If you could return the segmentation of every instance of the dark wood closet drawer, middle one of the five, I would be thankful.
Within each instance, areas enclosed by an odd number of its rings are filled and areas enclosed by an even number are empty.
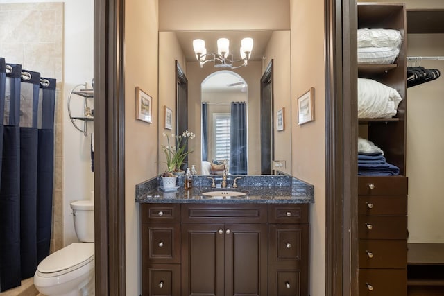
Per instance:
[[[358,216],[361,239],[407,239],[407,216]]]

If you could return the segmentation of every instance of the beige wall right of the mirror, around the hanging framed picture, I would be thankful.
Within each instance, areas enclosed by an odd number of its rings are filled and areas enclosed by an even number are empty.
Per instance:
[[[291,172],[314,185],[310,206],[310,295],[325,295],[324,1],[291,1]],[[297,125],[296,98],[314,87],[315,121]]]

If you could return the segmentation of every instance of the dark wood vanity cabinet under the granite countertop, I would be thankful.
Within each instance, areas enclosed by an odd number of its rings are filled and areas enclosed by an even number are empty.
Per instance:
[[[308,204],[142,204],[141,220],[143,295],[308,295]]]

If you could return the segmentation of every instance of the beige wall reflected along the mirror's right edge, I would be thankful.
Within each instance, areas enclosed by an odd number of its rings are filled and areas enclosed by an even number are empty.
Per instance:
[[[265,60],[262,64],[264,73],[271,59],[273,59],[273,111],[276,121],[276,112],[284,108],[284,130],[274,130],[274,159],[285,161],[286,166],[280,171],[291,174],[291,55],[290,31],[273,31],[268,43]]]

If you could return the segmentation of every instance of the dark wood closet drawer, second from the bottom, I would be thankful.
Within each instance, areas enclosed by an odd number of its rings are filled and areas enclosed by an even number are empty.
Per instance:
[[[407,268],[407,240],[359,240],[359,268]]]

